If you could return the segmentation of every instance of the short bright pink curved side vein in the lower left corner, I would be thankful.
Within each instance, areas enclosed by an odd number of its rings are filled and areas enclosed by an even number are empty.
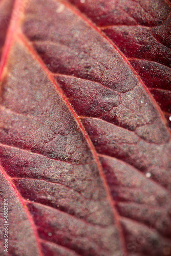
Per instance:
[[[14,192],[17,196],[17,198],[19,199],[20,203],[22,204],[25,212],[26,212],[26,215],[27,215],[27,218],[31,224],[31,227],[33,229],[33,233],[34,233],[34,236],[35,236],[35,239],[37,241],[37,238],[38,238],[38,233],[37,233],[37,229],[35,227],[35,224],[33,222],[33,219],[31,217],[31,214],[30,214],[30,211],[28,210],[28,207],[25,203],[25,200],[23,199],[23,197],[19,194],[18,190],[16,189],[15,185],[13,184],[13,182],[11,181],[10,177],[6,174],[6,172],[4,171],[4,169],[2,168],[2,166],[0,165],[0,169],[3,173],[3,175],[5,176],[5,178],[7,179],[7,181],[9,182],[10,186],[14,189]],[[38,244],[38,250],[39,250],[39,256],[43,256],[42,252],[41,252],[41,246],[40,246],[40,243],[37,242]]]

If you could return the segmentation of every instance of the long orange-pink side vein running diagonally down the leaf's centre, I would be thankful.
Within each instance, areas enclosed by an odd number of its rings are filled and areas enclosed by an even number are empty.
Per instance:
[[[47,69],[47,67],[45,66],[45,63],[41,60],[41,58],[38,56],[38,54],[34,51],[34,49],[32,48],[31,44],[28,42],[27,38],[22,33],[19,33],[18,37],[20,38],[20,40],[22,40],[24,46],[28,49],[28,51],[34,56],[36,61],[39,63],[39,65],[42,67],[44,72],[49,77],[50,81],[55,85],[59,95],[62,97],[63,101],[66,102],[69,110],[73,114],[73,116],[74,116],[75,120],[77,121],[77,123],[78,123],[78,125],[79,125],[79,127],[80,127],[80,129],[81,129],[81,131],[82,131],[82,133],[84,135],[84,137],[86,138],[86,140],[87,140],[87,142],[88,142],[88,144],[90,146],[90,149],[92,151],[92,154],[94,156],[94,159],[96,161],[97,167],[99,169],[99,174],[100,174],[100,177],[101,177],[101,179],[103,181],[103,185],[104,185],[104,188],[105,188],[105,191],[106,191],[106,197],[109,200],[109,203],[110,203],[110,205],[112,207],[113,215],[115,217],[115,222],[116,222],[116,225],[118,227],[118,232],[119,232],[119,235],[120,235],[120,239],[122,241],[122,250],[125,253],[125,255],[127,255],[127,251],[125,250],[126,246],[125,246],[123,231],[122,231],[122,227],[121,227],[121,224],[120,224],[120,221],[119,221],[119,214],[118,214],[118,211],[115,208],[115,202],[113,201],[113,198],[111,196],[111,193],[110,193],[110,190],[109,190],[109,186],[108,186],[108,183],[107,183],[107,181],[105,179],[105,176],[103,174],[103,169],[102,169],[101,163],[99,161],[99,158],[98,158],[97,152],[95,150],[95,147],[92,144],[92,141],[91,141],[89,135],[87,134],[86,130],[84,129],[84,126],[82,125],[81,121],[79,120],[79,117],[77,116],[76,112],[72,108],[69,100],[63,94],[62,90],[58,86],[58,83],[55,81],[55,79],[53,77],[53,74]]]

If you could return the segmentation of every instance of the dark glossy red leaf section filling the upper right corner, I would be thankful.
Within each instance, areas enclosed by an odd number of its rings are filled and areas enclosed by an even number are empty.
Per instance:
[[[171,126],[171,4],[161,1],[70,0],[126,56]],[[84,1],[83,1],[84,2]]]

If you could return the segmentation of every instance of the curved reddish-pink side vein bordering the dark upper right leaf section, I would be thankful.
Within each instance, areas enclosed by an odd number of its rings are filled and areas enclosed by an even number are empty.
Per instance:
[[[152,94],[149,92],[148,88],[145,86],[145,84],[143,83],[142,79],[139,77],[139,75],[137,74],[137,72],[135,71],[135,69],[132,67],[131,63],[127,60],[126,56],[119,50],[119,48],[114,44],[113,41],[111,41],[109,39],[108,36],[106,36],[101,30],[100,28],[98,28],[93,22],[91,22],[91,20],[84,14],[82,14],[74,5],[68,3],[68,1],[66,0],[59,0],[63,5],[65,5],[68,9],[70,9],[73,13],[75,13],[78,17],[80,17],[82,20],[84,20],[84,22],[86,22],[92,29],[94,29],[95,31],[97,31],[101,37],[103,37],[105,40],[107,40],[109,42],[110,45],[113,46],[113,48],[120,54],[120,56],[123,58],[123,60],[126,62],[127,66],[129,66],[129,68],[132,70],[132,72],[134,73],[134,75],[137,77],[138,81],[142,84],[142,87],[144,88],[144,90],[146,91],[146,93],[148,94],[148,96],[151,98],[153,104],[155,105],[156,109],[158,110],[161,120],[163,121],[168,133],[171,135],[170,129],[169,127],[167,127],[167,121],[159,107],[159,105],[157,104],[156,100],[154,99],[154,97],[152,96]]]

